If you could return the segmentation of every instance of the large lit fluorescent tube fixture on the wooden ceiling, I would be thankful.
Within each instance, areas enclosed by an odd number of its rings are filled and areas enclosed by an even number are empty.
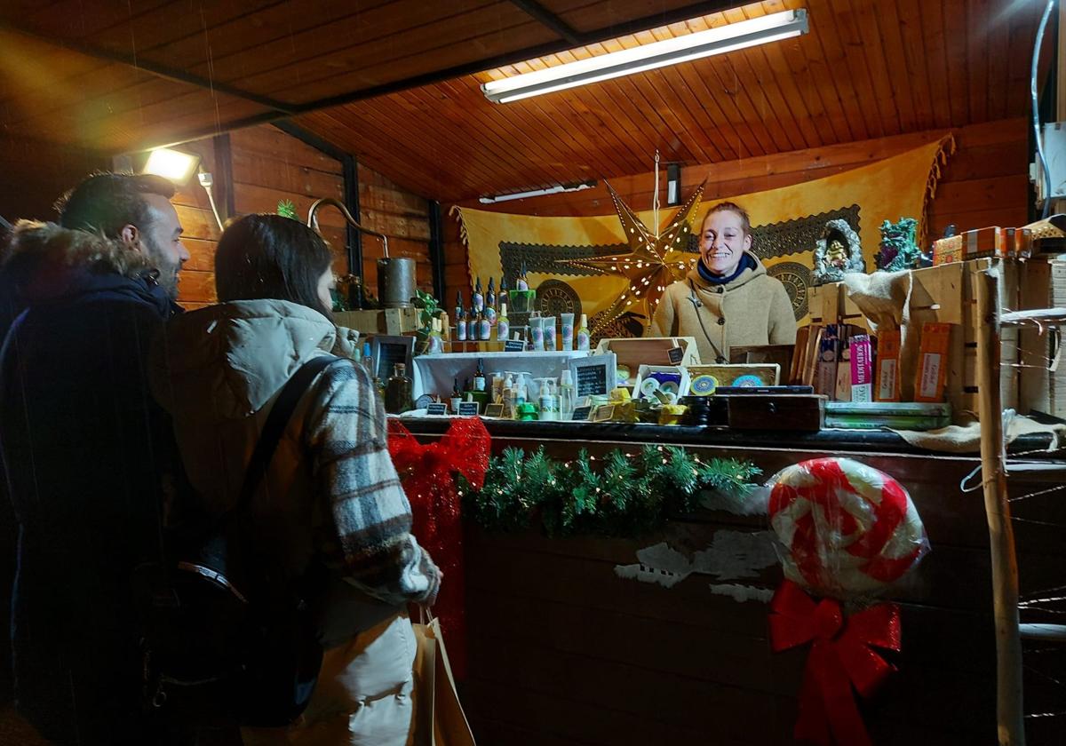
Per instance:
[[[645,44],[633,49],[599,54],[535,72],[526,72],[483,83],[485,98],[507,103],[530,96],[563,91],[611,78],[643,72],[679,62],[724,54],[769,42],[779,42],[806,34],[807,11],[784,11],[761,18],[750,18],[707,31]]]

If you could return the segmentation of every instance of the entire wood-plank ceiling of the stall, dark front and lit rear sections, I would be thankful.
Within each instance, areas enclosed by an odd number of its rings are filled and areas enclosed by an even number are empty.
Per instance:
[[[811,29],[796,39],[507,104],[479,88],[796,7]],[[397,183],[458,201],[647,172],[656,148],[664,161],[706,164],[1021,116],[1041,10],[1031,0],[5,0],[0,136],[120,152],[291,115]]]

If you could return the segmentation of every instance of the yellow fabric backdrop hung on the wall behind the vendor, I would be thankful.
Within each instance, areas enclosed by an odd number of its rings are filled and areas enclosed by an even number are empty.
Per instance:
[[[873,271],[873,257],[881,240],[878,228],[883,221],[917,217],[923,222],[926,200],[936,189],[939,164],[947,158],[951,139],[944,137],[922,147],[869,166],[817,179],[792,186],[741,194],[705,201],[696,212],[693,230],[698,231],[704,215],[711,204],[729,199],[744,207],[753,225],[782,223],[809,215],[859,206],[859,238],[868,271]],[[713,178],[713,168],[711,169]],[[471,277],[499,277],[500,243],[553,245],[553,246],[608,246],[625,244],[626,239],[615,214],[586,217],[535,217],[500,212],[486,212],[470,208],[458,209],[462,232],[469,249]],[[675,210],[660,211],[660,228],[665,226]],[[645,225],[652,227],[650,210],[637,213]],[[920,226],[919,236],[923,236]],[[623,249],[625,250],[625,249]],[[813,266],[813,246],[803,247],[792,254],[764,259],[766,266],[778,262],[796,262]],[[530,287],[543,280],[565,277],[565,281],[581,297],[583,310],[589,318],[603,310],[624,290],[624,278],[613,275],[578,277],[567,275],[564,269],[553,274],[530,272]]]

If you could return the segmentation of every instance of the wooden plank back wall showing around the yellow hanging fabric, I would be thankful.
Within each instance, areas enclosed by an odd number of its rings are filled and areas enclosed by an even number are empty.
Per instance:
[[[709,176],[705,200],[778,189],[839,174],[899,155],[937,140],[947,130],[866,140],[845,145],[793,150],[681,169],[682,197]],[[957,151],[940,178],[930,206],[930,236],[940,236],[949,223],[959,230],[989,225],[1019,226],[1028,222],[1028,130],[1024,119],[1003,119],[954,130]],[[653,174],[648,172],[611,184],[636,210],[651,207]],[[665,179],[660,181],[665,197]],[[465,207],[531,215],[602,215],[613,207],[602,183],[596,189],[545,197],[518,199],[499,205],[477,200]],[[451,305],[455,291],[469,294],[466,247],[459,242],[454,218],[445,228],[446,296]]]

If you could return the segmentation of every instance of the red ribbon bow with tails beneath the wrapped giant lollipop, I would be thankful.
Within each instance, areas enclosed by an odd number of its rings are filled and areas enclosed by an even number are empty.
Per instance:
[[[895,667],[871,646],[900,649],[900,610],[881,603],[846,622],[840,602],[817,602],[785,581],[770,602],[770,644],[774,652],[811,643],[800,691],[796,741],[829,746],[870,746],[852,686],[869,697]]]

